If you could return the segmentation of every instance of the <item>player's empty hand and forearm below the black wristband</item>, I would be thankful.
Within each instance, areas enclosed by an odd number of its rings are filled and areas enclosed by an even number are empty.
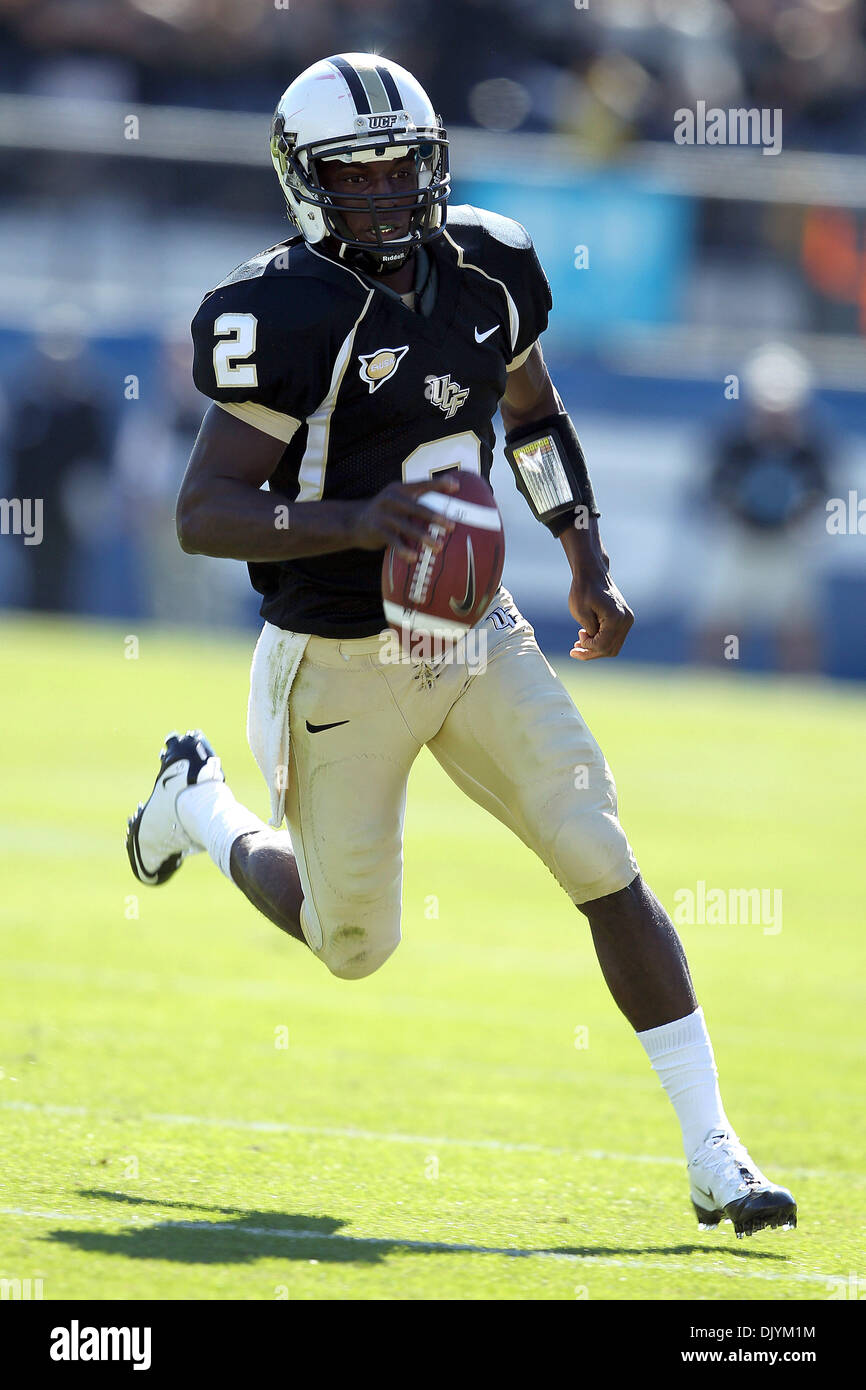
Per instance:
[[[571,528],[563,543],[573,574],[569,612],[581,624],[569,656],[578,662],[617,656],[634,623],[634,613],[610,578],[610,559],[598,525],[592,523],[582,532]]]

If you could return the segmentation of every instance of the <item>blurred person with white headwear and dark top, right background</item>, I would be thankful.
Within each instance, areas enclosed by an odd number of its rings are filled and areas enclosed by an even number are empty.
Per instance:
[[[746,363],[745,417],[717,439],[708,481],[713,530],[698,599],[701,660],[719,663],[728,638],[760,628],[773,637],[776,666],[817,670],[815,571],[830,446],[810,399],[808,364],[792,348],[770,343]]]

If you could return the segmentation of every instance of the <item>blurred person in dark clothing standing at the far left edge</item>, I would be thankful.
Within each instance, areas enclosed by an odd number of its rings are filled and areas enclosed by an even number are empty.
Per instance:
[[[111,425],[106,389],[86,343],[63,310],[10,386],[8,481],[13,498],[42,500],[42,539],[21,543],[25,603],[71,612],[88,541],[111,516]]]

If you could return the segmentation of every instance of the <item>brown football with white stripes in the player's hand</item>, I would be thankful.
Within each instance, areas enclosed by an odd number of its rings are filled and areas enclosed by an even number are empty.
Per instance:
[[[453,474],[457,492],[425,492],[420,500],[455,521],[436,553],[421,545],[416,560],[393,546],[382,563],[382,603],[389,627],[400,634],[431,632],[445,639],[464,635],[499,588],[505,564],[502,517],[489,482],[477,473]],[[428,537],[442,528],[431,521]]]

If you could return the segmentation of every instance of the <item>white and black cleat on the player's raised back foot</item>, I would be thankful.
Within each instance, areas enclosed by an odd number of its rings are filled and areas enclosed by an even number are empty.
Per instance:
[[[203,781],[225,781],[225,776],[202,730],[183,738],[170,734],[153,791],[126,823],[126,853],[139,883],[165,883],[188,855],[202,853],[203,845],[190,840],[178,819],[177,801]]]

